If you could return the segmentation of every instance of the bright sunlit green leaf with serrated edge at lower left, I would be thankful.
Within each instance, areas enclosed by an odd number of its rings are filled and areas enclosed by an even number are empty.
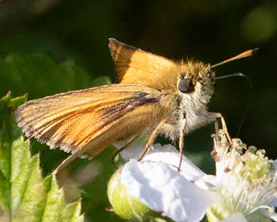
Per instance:
[[[17,127],[12,110],[26,96],[0,99],[0,216],[8,221],[83,221],[80,200],[66,205],[55,176],[42,177],[39,155]]]

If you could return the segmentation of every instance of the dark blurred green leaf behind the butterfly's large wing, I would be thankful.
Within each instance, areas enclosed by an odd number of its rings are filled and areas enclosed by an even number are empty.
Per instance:
[[[89,75],[72,60],[57,64],[42,55],[12,53],[0,58],[0,79],[0,93],[28,92],[30,99],[91,87]]]

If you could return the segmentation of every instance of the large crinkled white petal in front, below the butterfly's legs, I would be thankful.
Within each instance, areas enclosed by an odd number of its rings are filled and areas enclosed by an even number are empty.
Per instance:
[[[174,221],[200,221],[208,207],[221,199],[161,162],[130,160],[122,169],[121,182],[130,195]]]

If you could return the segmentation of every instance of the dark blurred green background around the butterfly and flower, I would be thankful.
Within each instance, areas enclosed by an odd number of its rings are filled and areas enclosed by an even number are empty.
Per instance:
[[[107,38],[167,58],[195,58],[215,64],[247,49],[258,56],[217,67],[217,75],[242,72],[251,78],[220,80],[210,110],[222,112],[235,137],[265,148],[276,158],[277,136],[276,1],[0,1],[0,96],[28,92],[29,99],[105,84],[114,80]],[[107,78],[103,78],[107,76]],[[99,79],[100,78],[100,79]],[[187,155],[213,172],[213,125],[186,137]],[[62,151],[32,142],[44,174],[66,157]],[[61,176],[68,198],[82,196],[87,221],[120,221],[107,212],[106,185],[116,169],[113,148],[93,161],[76,160]]]

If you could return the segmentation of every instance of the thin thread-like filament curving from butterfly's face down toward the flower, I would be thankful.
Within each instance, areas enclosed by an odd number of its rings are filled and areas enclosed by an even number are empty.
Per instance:
[[[237,131],[237,135],[236,135],[236,137],[238,137],[238,135],[240,133],[240,129],[242,128],[242,123],[244,122],[244,119],[247,116],[247,112],[249,110],[249,106],[250,106],[250,103],[251,103],[252,94],[253,94],[253,83],[252,83],[251,79],[247,75],[244,75],[242,73],[230,74],[230,75],[225,75],[225,76],[219,76],[219,77],[217,77],[215,79],[216,80],[220,80],[220,79],[231,78],[231,77],[242,77],[242,78],[245,78],[247,80],[247,82],[249,83],[249,98],[248,98],[247,106],[246,106],[246,108],[244,110],[244,114],[242,115],[242,119],[240,119],[240,124],[238,126],[238,131]]]

